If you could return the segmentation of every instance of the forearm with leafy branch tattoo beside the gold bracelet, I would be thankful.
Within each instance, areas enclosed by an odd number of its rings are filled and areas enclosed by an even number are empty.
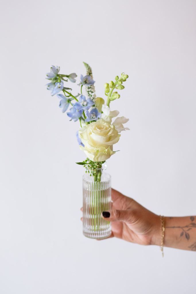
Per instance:
[[[160,235],[156,245],[160,245]],[[196,216],[165,217],[164,246],[196,251]]]

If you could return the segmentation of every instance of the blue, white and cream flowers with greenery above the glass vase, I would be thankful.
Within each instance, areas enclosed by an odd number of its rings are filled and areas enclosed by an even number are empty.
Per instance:
[[[94,176],[96,181],[100,181],[98,169],[101,165],[112,156],[113,145],[118,142],[120,132],[128,130],[123,126],[128,121],[124,116],[116,118],[113,123],[112,119],[118,116],[119,111],[110,110],[110,101],[120,98],[117,91],[123,90],[123,82],[128,78],[127,74],[122,73],[115,77],[115,81],[104,84],[105,95],[107,101],[95,94],[95,81],[93,80],[91,67],[84,62],[86,67],[86,76],[80,76],[80,93],[73,95],[72,89],[64,86],[64,82],[76,82],[77,75],[75,73],[65,75],[59,74],[59,66],[51,66],[51,72],[46,74],[46,78],[50,80],[47,89],[51,91],[51,96],[56,95],[60,99],[59,107],[62,112],[67,112],[70,121],[79,121],[80,129],[76,136],[80,149],[83,150],[88,157],[78,164],[86,167],[86,171]],[[86,90],[86,96],[83,94],[83,86]],[[74,103],[75,102],[75,103]],[[69,109],[68,109],[69,108]]]

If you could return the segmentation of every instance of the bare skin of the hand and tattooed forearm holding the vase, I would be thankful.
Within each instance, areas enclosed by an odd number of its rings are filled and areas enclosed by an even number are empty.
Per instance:
[[[160,246],[160,216],[114,189],[111,196],[110,217],[101,215],[111,222],[112,234],[109,238]],[[164,246],[196,251],[196,216],[165,217]]]

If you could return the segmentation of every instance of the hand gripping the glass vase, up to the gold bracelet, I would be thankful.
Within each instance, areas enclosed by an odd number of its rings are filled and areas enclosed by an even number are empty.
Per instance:
[[[111,237],[138,243],[141,245],[160,244],[160,217],[147,210],[133,199],[112,189],[112,210],[109,217],[102,217],[111,221]]]

